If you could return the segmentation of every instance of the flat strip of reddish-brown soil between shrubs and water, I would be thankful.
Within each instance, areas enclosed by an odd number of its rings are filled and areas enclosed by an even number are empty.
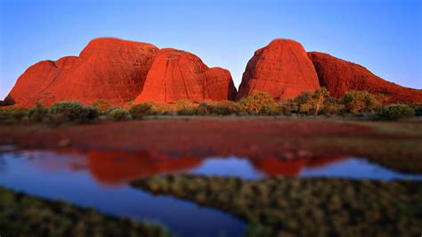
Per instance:
[[[422,131],[418,121],[164,118],[55,128],[0,126],[0,143],[28,149],[147,151],[173,158],[235,155],[254,159],[254,165],[269,174],[271,165],[257,159],[307,159],[303,161],[309,164],[318,161],[313,158],[358,156],[403,171],[422,172],[422,134],[418,131]]]

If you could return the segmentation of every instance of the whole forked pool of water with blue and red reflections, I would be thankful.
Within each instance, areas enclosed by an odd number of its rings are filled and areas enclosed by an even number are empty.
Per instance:
[[[0,185],[49,199],[69,200],[120,217],[156,221],[181,236],[198,236],[199,233],[218,236],[222,232],[226,236],[241,236],[245,225],[222,211],[202,208],[191,201],[171,196],[154,196],[127,185],[129,180],[144,176],[181,172],[245,179],[327,176],[422,180],[422,175],[395,172],[356,158],[288,161],[236,157],[157,159],[148,153],[138,155],[124,151],[0,153]]]

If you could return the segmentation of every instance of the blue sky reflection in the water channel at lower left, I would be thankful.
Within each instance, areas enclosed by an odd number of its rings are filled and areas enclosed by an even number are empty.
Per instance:
[[[20,156],[18,156],[20,157]],[[48,199],[68,200],[71,203],[93,207],[101,212],[120,217],[147,219],[166,225],[172,233],[181,236],[241,236],[245,224],[231,215],[214,208],[200,207],[191,201],[171,196],[154,196],[126,184],[104,185],[93,179],[87,169],[69,169],[66,166],[52,169],[37,166],[42,159],[60,159],[65,163],[70,156],[36,156],[33,159],[0,155],[4,169],[0,185]],[[45,168],[46,167],[46,168]]]

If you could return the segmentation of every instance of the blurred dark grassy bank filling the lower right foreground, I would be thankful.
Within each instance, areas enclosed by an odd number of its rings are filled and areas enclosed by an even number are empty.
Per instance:
[[[153,176],[134,187],[220,208],[249,223],[248,236],[417,236],[422,183],[345,179]]]

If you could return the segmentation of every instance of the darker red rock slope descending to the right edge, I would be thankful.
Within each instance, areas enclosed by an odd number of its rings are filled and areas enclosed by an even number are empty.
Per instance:
[[[385,94],[386,102],[422,102],[422,90],[399,86],[385,81],[359,64],[344,61],[327,53],[308,53],[320,80],[330,94],[340,97],[350,90],[366,90],[372,94]]]

